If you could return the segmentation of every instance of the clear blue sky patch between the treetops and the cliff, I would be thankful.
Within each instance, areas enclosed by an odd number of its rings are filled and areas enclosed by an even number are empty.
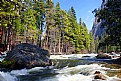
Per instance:
[[[82,21],[86,23],[88,30],[92,29],[94,14],[92,11],[95,8],[101,6],[102,0],[53,0],[54,4],[60,2],[61,9],[69,10],[71,6],[76,11],[77,19],[82,18]]]

